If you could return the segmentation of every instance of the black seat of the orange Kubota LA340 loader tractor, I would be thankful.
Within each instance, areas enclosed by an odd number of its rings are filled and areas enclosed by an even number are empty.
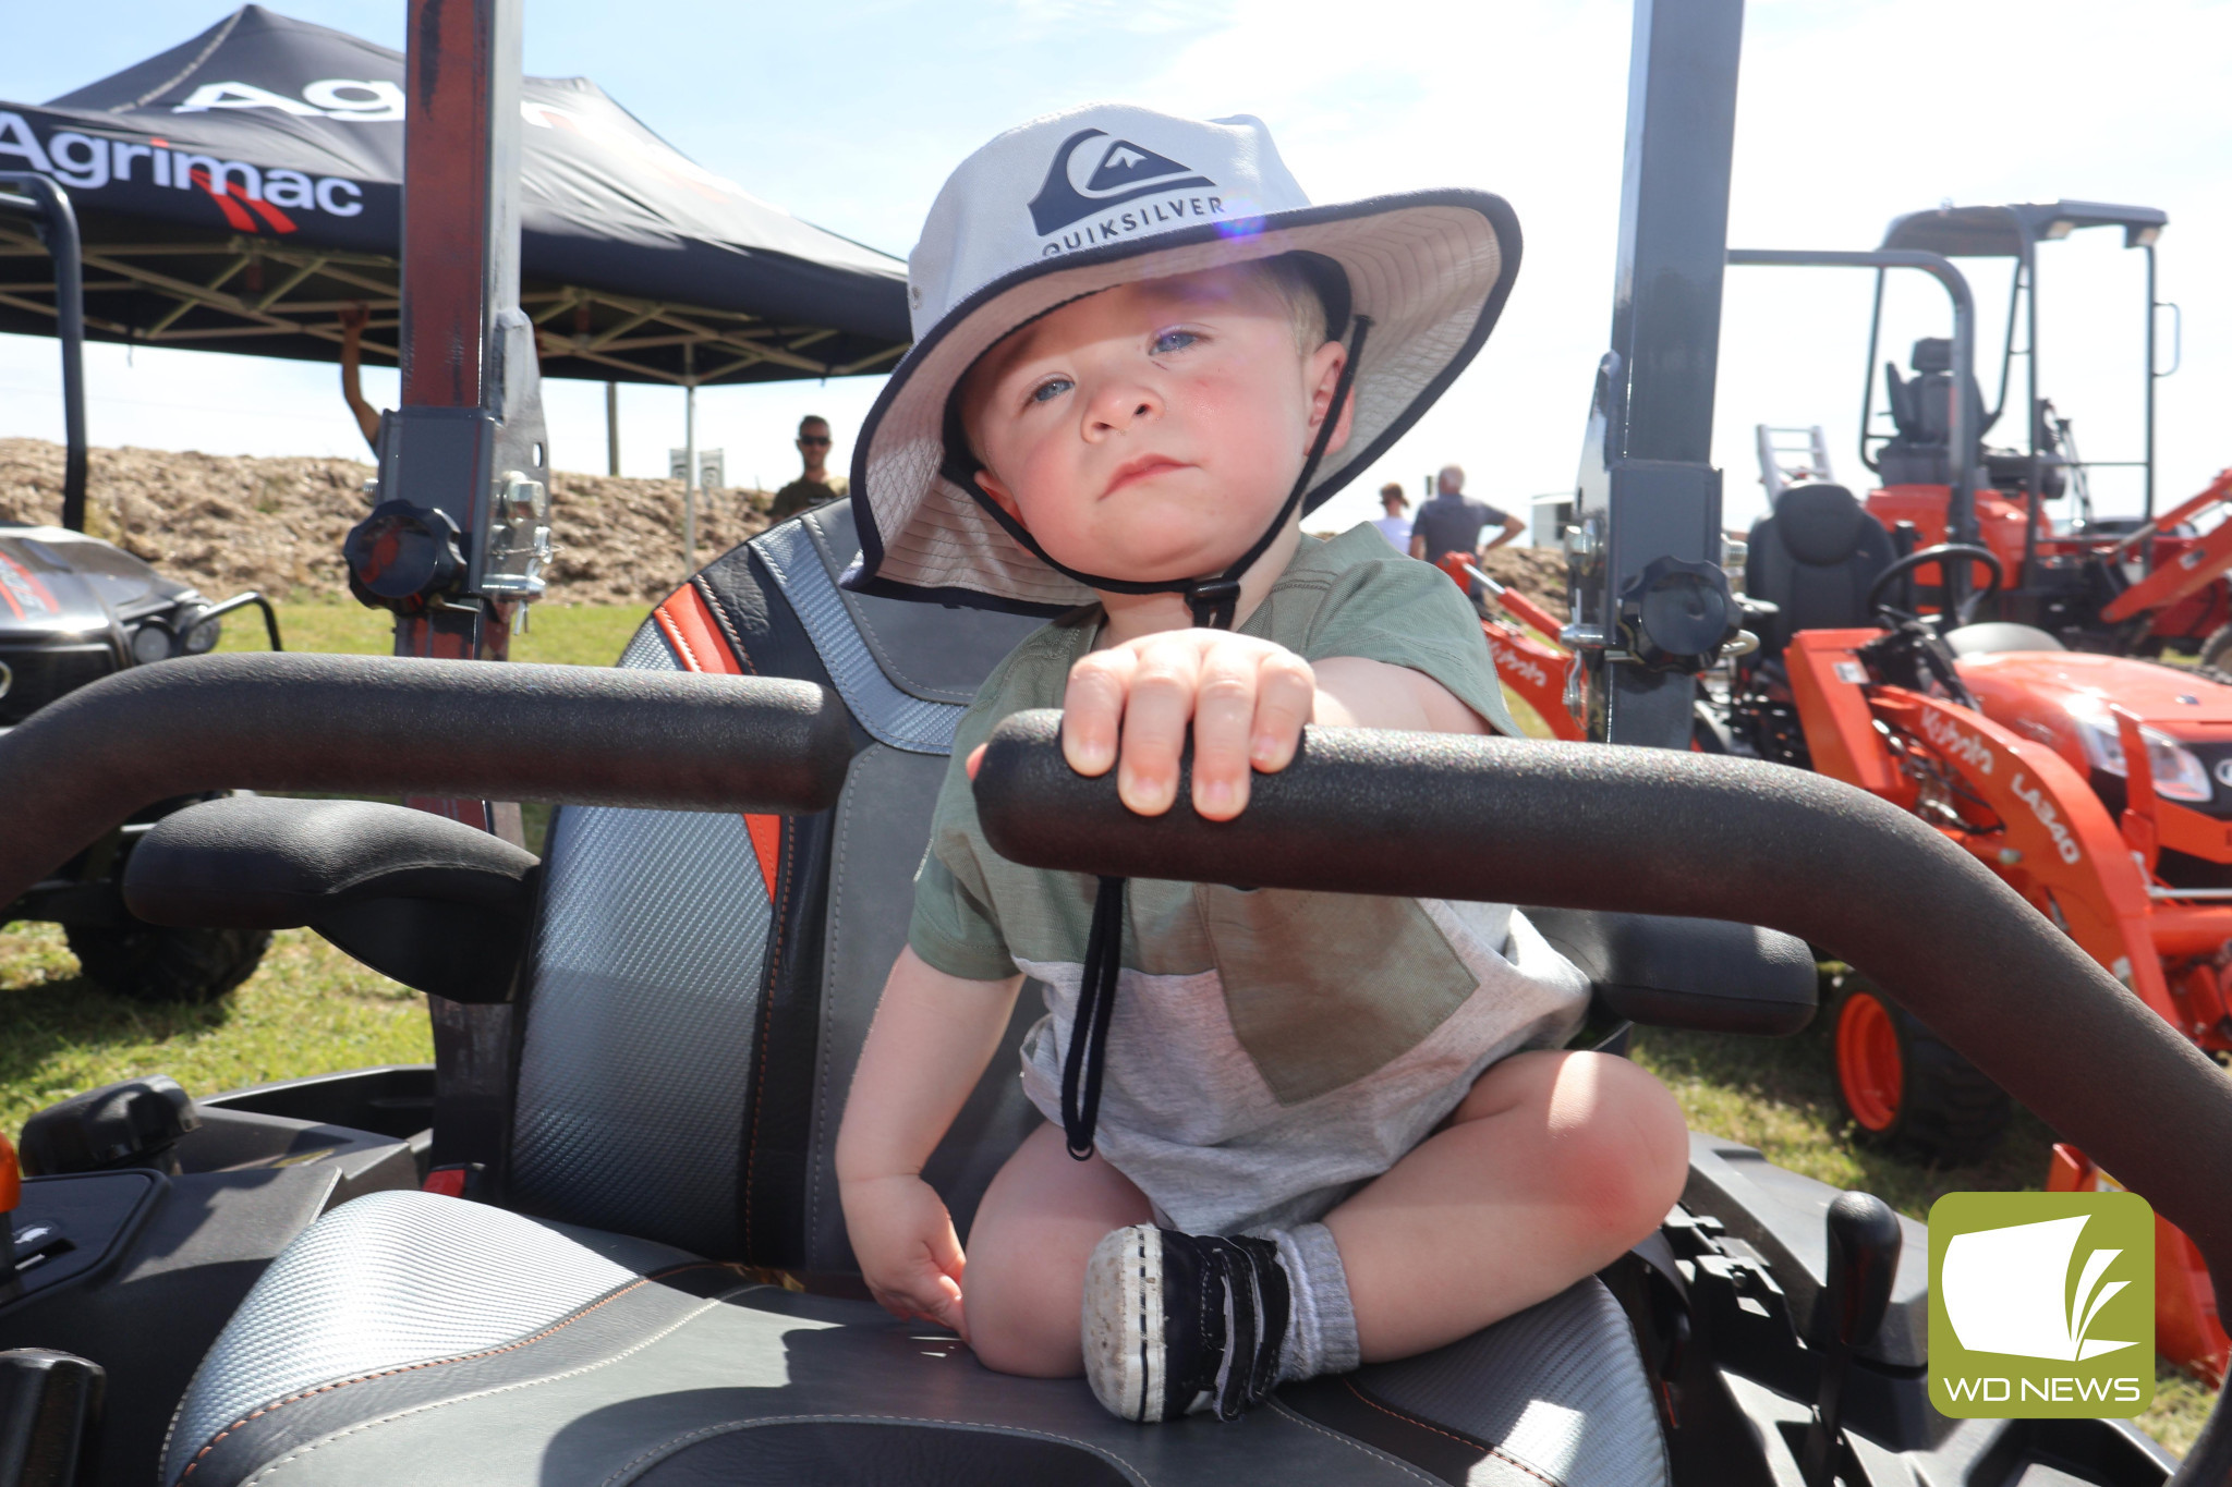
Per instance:
[[[1763,655],[1799,631],[1873,624],[1868,589],[1893,562],[1891,533],[1844,486],[1790,486],[1752,524],[1743,593],[1777,606],[1759,629]]]

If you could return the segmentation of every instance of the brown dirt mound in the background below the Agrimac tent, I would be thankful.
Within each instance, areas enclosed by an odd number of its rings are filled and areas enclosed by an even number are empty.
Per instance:
[[[96,448],[85,526],[210,597],[261,589],[346,597],[341,537],[364,517],[373,466]],[[679,479],[551,477],[551,602],[650,604],[683,575]],[[699,493],[699,562],[766,528],[763,490]],[[56,522],[62,446],[0,439],[0,522]]]

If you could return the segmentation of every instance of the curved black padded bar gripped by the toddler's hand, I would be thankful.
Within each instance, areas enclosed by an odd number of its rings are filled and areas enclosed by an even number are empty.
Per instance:
[[[2232,1295],[2232,1081],[1982,863],[1837,780],[1676,749],[1308,729],[1245,814],[1187,787],[1134,816],[1062,762],[1060,713],[1002,722],[975,778],[1029,867],[1237,887],[1732,919],[1873,976],[2143,1193]],[[2216,1409],[2176,1483],[2232,1480]]]

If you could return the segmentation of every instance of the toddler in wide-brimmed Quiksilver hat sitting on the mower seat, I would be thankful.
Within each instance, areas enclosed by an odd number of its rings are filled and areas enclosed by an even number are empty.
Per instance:
[[[1674,1099],[1562,1050],[1587,981],[1509,905],[1038,872],[971,798],[1027,707],[1147,816],[1190,731],[1212,820],[1306,722],[1516,731],[1464,595],[1301,515],[1471,361],[1518,252],[1493,196],[1312,207],[1261,123],[1109,105],[995,138],[931,207],[846,584],[1049,624],[958,727],[837,1177],[875,1298],[993,1369],[1230,1418],[1556,1295],[1681,1195]],[[1027,976],[1049,1124],[964,1255],[920,1173]]]

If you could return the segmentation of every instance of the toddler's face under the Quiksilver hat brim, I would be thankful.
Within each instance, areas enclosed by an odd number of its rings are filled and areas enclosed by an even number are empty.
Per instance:
[[[978,477],[1056,562],[1156,582],[1241,557],[1295,486],[1346,350],[1308,357],[1259,274],[1120,285],[1062,305],[971,370]],[[1348,437],[1344,412],[1328,453]]]

